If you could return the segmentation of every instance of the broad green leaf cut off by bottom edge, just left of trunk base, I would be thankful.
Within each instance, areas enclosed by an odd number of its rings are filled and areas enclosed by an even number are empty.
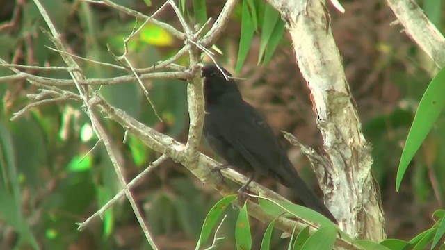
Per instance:
[[[337,238],[337,228],[335,226],[323,226],[312,233],[301,249],[332,249],[335,238]]]

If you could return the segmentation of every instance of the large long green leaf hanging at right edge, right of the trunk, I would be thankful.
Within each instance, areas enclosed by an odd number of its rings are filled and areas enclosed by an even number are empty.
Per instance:
[[[396,190],[401,186],[403,175],[406,172],[408,164],[410,164],[414,154],[421,146],[426,135],[436,122],[437,117],[442,112],[445,105],[445,68],[441,69],[439,73],[432,79],[430,85],[423,94],[423,97],[417,108],[414,122],[408,133],[405,147],[403,148],[401,161],[398,165]]]

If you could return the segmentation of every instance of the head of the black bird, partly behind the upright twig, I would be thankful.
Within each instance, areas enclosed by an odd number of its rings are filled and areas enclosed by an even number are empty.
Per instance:
[[[223,68],[221,68],[223,69]],[[216,101],[219,97],[233,95],[241,99],[241,93],[231,78],[232,74],[223,69],[223,72],[229,78],[226,80],[223,73],[214,65],[205,65],[202,67],[202,77],[204,78],[204,97],[206,103]]]

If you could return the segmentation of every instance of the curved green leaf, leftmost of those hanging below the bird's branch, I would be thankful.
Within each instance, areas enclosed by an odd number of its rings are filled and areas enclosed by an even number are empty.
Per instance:
[[[209,240],[210,233],[213,229],[213,226],[215,226],[216,222],[218,222],[218,219],[223,214],[225,208],[229,206],[229,204],[236,199],[237,195],[229,195],[227,197],[224,197],[223,199],[220,199],[213,208],[207,213],[206,219],[204,219],[204,223],[202,224],[201,228],[201,235],[200,238],[197,240],[195,249],[200,249],[200,247]]]

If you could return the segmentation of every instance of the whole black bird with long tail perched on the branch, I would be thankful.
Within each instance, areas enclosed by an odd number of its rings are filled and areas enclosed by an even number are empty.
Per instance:
[[[272,128],[243,100],[235,81],[226,80],[213,65],[202,67],[202,77],[206,110],[204,137],[211,148],[234,169],[251,174],[248,183],[255,174],[272,176],[293,188],[308,208],[337,223],[321,199],[298,176]]]

